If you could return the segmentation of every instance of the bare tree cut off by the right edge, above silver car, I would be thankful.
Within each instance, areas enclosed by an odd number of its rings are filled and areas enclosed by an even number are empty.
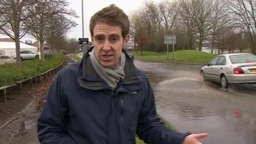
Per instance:
[[[253,54],[256,54],[256,17],[255,0],[234,0],[228,1],[232,17],[236,20],[236,26],[243,29],[248,35],[250,47]]]

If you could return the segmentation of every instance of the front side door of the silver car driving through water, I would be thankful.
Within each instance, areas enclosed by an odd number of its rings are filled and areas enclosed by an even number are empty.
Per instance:
[[[220,56],[216,56],[208,65],[204,68],[205,78],[214,81],[214,72],[213,69],[219,60]]]

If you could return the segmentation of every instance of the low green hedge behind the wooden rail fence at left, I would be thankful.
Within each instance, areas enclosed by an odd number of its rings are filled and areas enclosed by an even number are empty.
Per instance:
[[[60,65],[62,61],[63,55],[56,54],[45,55],[44,63],[38,59],[21,61],[22,68],[18,68],[15,63],[0,65],[0,87],[45,72]]]

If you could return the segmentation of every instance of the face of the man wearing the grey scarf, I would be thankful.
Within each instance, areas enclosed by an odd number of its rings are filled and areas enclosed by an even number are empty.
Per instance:
[[[115,68],[122,48],[127,45],[129,36],[122,37],[121,26],[112,26],[99,22],[93,29],[92,44],[94,54],[102,67]]]

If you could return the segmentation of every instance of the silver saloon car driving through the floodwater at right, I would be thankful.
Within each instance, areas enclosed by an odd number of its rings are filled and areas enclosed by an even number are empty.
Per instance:
[[[221,54],[201,68],[201,76],[221,83],[256,83],[256,56],[249,53]]]

